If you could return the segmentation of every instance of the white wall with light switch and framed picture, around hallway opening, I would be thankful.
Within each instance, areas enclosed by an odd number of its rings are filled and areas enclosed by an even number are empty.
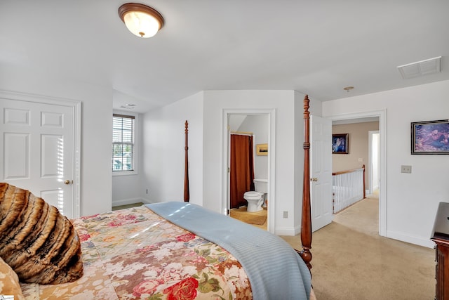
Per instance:
[[[323,116],[387,111],[387,237],[433,247],[438,202],[449,202],[447,155],[411,155],[410,122],[448,119],[449,81],[323,103]],[[401,173],[411,165],[412,174]]]

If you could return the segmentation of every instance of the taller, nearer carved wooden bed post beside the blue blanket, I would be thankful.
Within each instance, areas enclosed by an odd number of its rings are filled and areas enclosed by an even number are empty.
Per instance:
[[[311,212],[310,212],[310,166],[309,166],[309,96],[304,96],[304,181],[302,183],[302,251],[298,252],[309,270],[311,269]]]

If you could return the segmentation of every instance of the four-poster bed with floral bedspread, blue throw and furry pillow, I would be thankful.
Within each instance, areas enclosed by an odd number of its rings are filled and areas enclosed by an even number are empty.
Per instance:
[[[0,183],[0,278],[9,272],[13,282],[3,290],[0,284],[0,294],[42,300],[314,299],[308,108],[305,96],[303,249],[189,203],[187,171],[182,202],[73,220],[29,191]],[[187,122],[185,150],[187,165]]]

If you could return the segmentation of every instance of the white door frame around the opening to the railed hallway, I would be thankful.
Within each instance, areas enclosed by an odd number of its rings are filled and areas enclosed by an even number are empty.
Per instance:
[[[333,121],[358,119],[363,117],[379,117],[379,235],[387,236],[387,110],[373,110],[370,112],[355,112],[347,115],[326,116],[326,118]]]

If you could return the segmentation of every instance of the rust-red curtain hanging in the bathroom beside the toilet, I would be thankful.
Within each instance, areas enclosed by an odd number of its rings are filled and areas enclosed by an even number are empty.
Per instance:
[[[254,190],[253,136],[231,135],[231,209],[246,205],[243,194]]]

